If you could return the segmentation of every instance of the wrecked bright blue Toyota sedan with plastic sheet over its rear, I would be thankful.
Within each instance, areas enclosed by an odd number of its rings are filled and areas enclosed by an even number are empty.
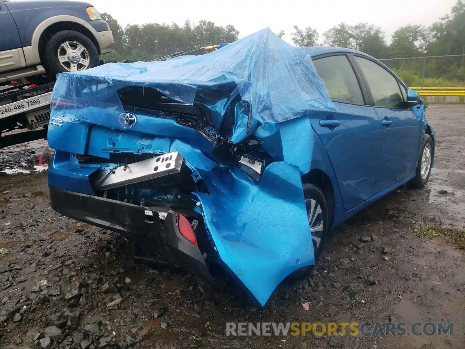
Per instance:
[[[219,264],[262,305],[330,228],[423,187],[436,144],[418,93],[379,60],[269,29],[59,74],[51,105],[56,211],[120,233],[143,261],[207,280]]]

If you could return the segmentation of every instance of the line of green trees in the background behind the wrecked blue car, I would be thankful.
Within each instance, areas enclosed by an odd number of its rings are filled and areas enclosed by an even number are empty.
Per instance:
[[[152,60],[166,54],[190,51],[198,47],[232,42],[239,31],[232,25],[216,26],[212,21],[189,20],[178,24],[146,23],[127,25],[124,29],[110,14],[102,13],[113,31],[115,46],[105,59]],[[283,37],[281,30],[278,35]],[[369,23],[333,26],[323,35],[323,45],[347,47],[363,51],[378,59],[409,58],[465,54],[465,0],[458,0],[449,14],[430,27],[406,25],[392,35],[390,44],[385,32]],[[292,42],[299,47],[319,45],[319,33],[312,27],[293,27]],[[465,81],[465,56],[410,60],[385,60],[409,86],[445,86]]]

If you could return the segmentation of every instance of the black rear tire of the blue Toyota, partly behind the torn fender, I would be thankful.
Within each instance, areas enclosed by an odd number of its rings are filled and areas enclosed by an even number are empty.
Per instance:
[[[318,248],[313,249],[313,253],[315,255],[315,264],[317,263],[323,248],[325,247],[326,240],[328,237],[328,230],[329,230],[329,222],[330,222],[330,212],[328,211],[328,206],[326,203],[326,197],[323,192],[314,184],[306,183],[303,186],[304,189],[304,198],[305,200],[313,199],[320,205],[322,215],[323,215],[323,231],[321,236],[321,242]],[[308,213],[308,206],[307,206],[307,213]],[[294,271],[290,276],[292,279],[302,279],[307,277],[310,271],[314,266],[306,266]]]

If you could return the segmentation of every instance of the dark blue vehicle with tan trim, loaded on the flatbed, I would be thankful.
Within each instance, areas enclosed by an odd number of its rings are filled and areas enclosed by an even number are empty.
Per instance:
[[[87,2],[0,0],[0,84],[95,67],[113,34]]]

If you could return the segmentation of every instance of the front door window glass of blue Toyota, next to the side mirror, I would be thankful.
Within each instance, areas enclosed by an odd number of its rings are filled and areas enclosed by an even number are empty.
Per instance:
[[[385,68],[371,60],[355,56],[363,74],[365,75],[368,86],[372,91],[376,107],[399,108],[404,102],[401,88],[397,79],[392,76]]]

